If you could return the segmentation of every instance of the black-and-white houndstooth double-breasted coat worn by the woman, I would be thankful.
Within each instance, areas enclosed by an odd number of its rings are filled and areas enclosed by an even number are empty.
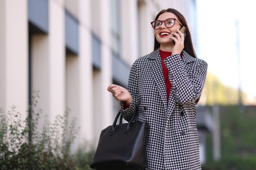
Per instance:
[[[175,54],[163,62],[171,81],[169,102],[160,50],[155,50],[131,67],[128,90],[132,101],[123,117],[129,120],[138,105],[139,120],[149,123],[146,169],[201,169],[194,102],[202,93],[207,63],[186,51],[182,58]]]

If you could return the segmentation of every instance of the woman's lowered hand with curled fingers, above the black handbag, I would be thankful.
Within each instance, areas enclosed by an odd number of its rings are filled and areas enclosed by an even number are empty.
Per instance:
[[[127,89],[123,88],[122,86],[112,84],[108,86],[108,92],[112,93],[113,97],[115,97],[117,101],[125,101],[126,105],[130,105],[131,94],[128,92]]]

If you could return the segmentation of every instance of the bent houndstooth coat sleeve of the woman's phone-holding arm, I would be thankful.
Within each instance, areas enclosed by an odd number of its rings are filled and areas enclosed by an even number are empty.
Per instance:
[[[181,105],[195,102],[200,97],[207,74],[207,63],[194,58],[191,63],[183,61],[179,54],[164,60],[169,71],[169,80],[175,92],[175,100]],[[186,68],[188,64],[188,67]]]

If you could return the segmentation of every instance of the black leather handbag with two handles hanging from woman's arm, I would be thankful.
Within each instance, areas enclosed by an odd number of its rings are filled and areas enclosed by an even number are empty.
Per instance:
[[[119,124],[117,120],[120,116]],[[138,107],[128,123],[121,122],[121,110],[112,126],[100,133],[93,169],[129,170],[145,169],[148,123],[138,120]]]

